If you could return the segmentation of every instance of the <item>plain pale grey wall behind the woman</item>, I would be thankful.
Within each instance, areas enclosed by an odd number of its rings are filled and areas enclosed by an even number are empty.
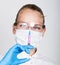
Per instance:
[[[0,0],[0,55],[4,56],[15,44],[12,25],[18,10],[26,3],[35,3],[43,10],[47,29],[40,45],[40,53],[59,65],[59,0]]]

